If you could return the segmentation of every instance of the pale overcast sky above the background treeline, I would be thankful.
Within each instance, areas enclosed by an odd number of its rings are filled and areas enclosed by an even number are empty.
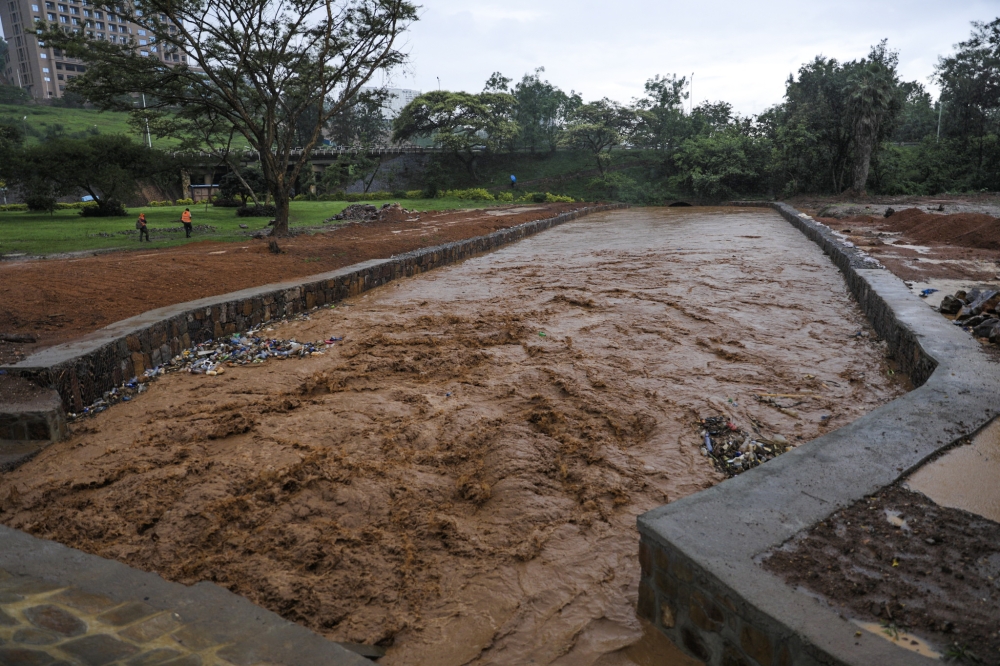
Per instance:
[[[655,74],[694,72],[695,103],[743,114],[781,101],[785,80],[823,54],[852,60],[888,38],[900,72],[929,81],[939,55],[968,39],[1000,0],[417,0],[410,65],[391,83],[478,92],[494,71],[545,78],[585,100],[640,96]]]

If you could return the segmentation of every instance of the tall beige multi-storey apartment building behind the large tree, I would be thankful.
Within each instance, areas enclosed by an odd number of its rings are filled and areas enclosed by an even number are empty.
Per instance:
[[[36,21],[85,30],[89,37],[111,43],[134,40],[140,55],[171,64],[187,62],[186,55],[160,48],[151,33],[125,16],[89,0],[0,0],[0,28],[9,45],[0,72],[10,85],[24,88],[37,100],[62,97],[66,84],[87,68],[83,61],[40,43],[35,36]]]

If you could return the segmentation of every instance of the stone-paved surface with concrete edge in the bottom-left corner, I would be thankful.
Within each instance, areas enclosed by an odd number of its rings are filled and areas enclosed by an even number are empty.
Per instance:
[[[0,525],[0,666],[265,664],[371,662],[211,583],[170,583]]]

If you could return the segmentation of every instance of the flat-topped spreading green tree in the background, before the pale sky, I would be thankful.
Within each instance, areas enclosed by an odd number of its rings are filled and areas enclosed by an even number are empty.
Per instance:
[[[435,90],[406,105],[393,124],[393,140],[430,137],[476,174],[479,152],[499,152],[517,136],[517,100],[508,93]]]

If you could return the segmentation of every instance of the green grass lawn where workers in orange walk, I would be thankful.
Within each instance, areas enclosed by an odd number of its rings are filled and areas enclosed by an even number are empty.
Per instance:
[[[384,201],[371,201],[381,206]],[[492,202],[458,201],[453,199],[400,200],[410,210],[452,210],[456,208],[485,208]],[[324,220],[342,211],[348,204],[342,201],[293,201],[291,226],[324,226]],[[245,241],[247,233],[267,226],[266,217],[236,217],[233,208],[214,208],[205,205],[191,206],[195,234],[184,238],[180,219],[184,206],[164,208],[131,208],[127,217],[80,217],[77,210],[59,210],[47,213],[0,213],[0,256],[11,254],[46,255],[81,250],[139,247],[135,220],[139,213],[146,214],[152,243],[149,247],[172,247],[195,241],[222,242]],[[198,231],[199,224],[214,227],[212,231]],[[249,229],[240,229],[246,224]],[[332,226],[333,223],[326,226]],[[173,229],[172,233],[158,229]],[[131,233],[120,233],[131,232]],[[147,247],[143,245],[142,247]]]

